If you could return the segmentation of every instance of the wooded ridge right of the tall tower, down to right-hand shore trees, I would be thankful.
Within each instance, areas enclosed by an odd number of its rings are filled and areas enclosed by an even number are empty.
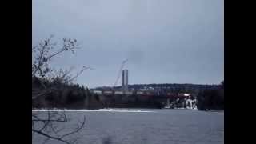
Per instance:
[[[197,99],[198,110],[224,110],[224,81],[219,85],[198,85],[198,84],[136,84],[129,85],[130,89],[139,90],[145,87],[152,87],[154,91],[160,92],[160,94],[172,93],[190,93],[192,99]],[[119,89],[120,86],[115,87]],[[179,98],[178,101],[171,99],[170,102],[174,102],[174,107],[182,107],[184,99]]]

